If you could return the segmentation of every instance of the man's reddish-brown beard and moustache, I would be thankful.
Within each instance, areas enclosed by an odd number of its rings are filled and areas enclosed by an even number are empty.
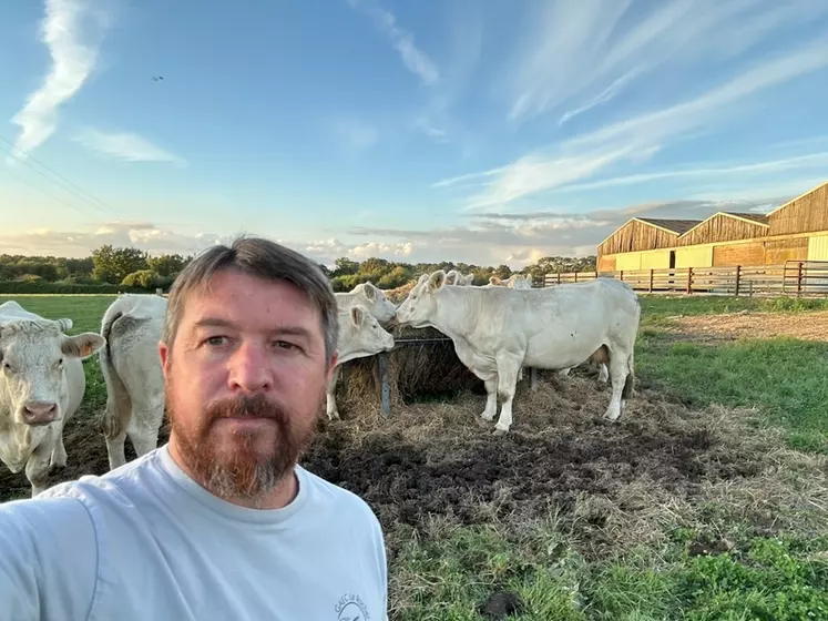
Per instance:
[[[167,387],[170,391],[170,387]],[[264,395],[236,396],[212,404],[193,427],[175,416],[167,395],[168,418],[176,447],[192,476],[207,491],[223,499],[263,500],[293,471],[310,444],[315,418],[292,416]],[[265,418],[266,429],[216,430],[223,418]],[[303,423],[308,419],[310,423]]]

